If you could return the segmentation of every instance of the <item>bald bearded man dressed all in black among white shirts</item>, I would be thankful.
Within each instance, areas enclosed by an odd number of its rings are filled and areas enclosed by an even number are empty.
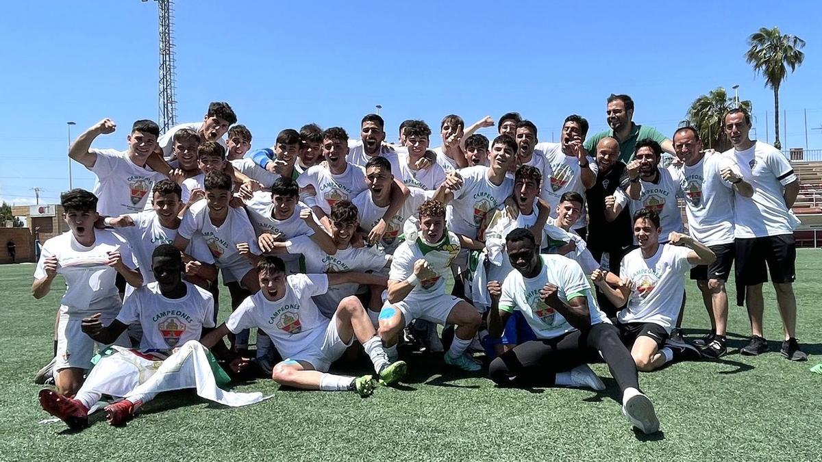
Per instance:
[[[605,218],[605,206],[607,202],[616,200],[614,192],[617,191],[617,187],[632,199],[640,197],[640,166],[635,160],[627,165],[619,160],[620,145],[611,136],[598,141],[595,154],[591,170],[597,176],[597,180],[585,191],[589,219],[586,240],[593,257],[602,262],[606,269],[619,274],[622,256],[634,243],[630,216],[627,207],[624,207],[616,219],[608,221]],[[608,316],[616,314],[615,307],[607,298],[600,302]]]

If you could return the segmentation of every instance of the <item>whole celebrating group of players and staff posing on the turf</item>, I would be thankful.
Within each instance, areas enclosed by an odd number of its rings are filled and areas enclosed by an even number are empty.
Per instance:
[[[588,122],[571,115],[558,143],[539,141],[519,113],[469,127],[449,115],[436,149],[419,120],[387,143],[376,114],[359,140],[309,124],[252,149],[220,102],[164,134],[134,122],[127,150],[91,148],[115,131],[104,119],[68,154],[95,173],[94,192],[62,195],[69,231],[44,243],[35,270],[35,298],[58,274],[67,284],[54,359],[40,374],[55,389],[41,390],[40,404],[80,428],[112,395],[122,400],[106,416],[122,424],[162,390],[224,396],[203,391],[224,377],[215,356],[233,372],[256,363],[284,386],[367,396],[402,380],[398,344],[416,340],[464,371],[483,367],[473,353],[484,350],[498,386],[603,390],[588,364],[604,360],[622,413],[656,432],[637,371],[726,353],[734,260],[752,330],[741,353],[768,350],[769,271],[781,353],[806,359],[792,292],[799,187],[787,159],[750,140],[741,109],[724,118],[724,153],[703,150],[691,127],[668,139],[633,113],[629,96],[611,95],[610,130],[587,136]],[[492,141],[476,133],[495,125]],[[689,270],[711,322],[692,342],[679,329]],[[231,314],[216,326],[218,272]],[[374,373],[329,373],[360,351],[354,340]]]

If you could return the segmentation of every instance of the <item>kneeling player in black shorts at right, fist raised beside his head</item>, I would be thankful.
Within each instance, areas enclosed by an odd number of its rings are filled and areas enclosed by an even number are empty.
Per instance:
[[[684,234],[672,232],[667,243],[659,243],[659,221],[654,210],[634,214],[634,236],[640,248],[622,259],[620,276],[626,284],[614,289],[603,281],[601,272],[594,271],[591,277],[615,307],[625,305],[617,312],[617,328],[636,367],[646,372],[675,359],[700,358],[698,349],[669,336],[682,307],[686,272],[716,259],[708,247]]]

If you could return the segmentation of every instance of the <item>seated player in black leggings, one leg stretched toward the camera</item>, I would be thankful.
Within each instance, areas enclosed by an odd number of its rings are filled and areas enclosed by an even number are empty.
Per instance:
[[[540,255],[533,234],[515,229],[506,237],[511,271],[502,284],[488,283],[492,307],[488,331],[500,335],[511,312],[522,312],[537,340],[517,345],[489,367],[499,386],[605,386],[586,363],[605,360],[622,395],[622,413],[649,434],[659,421],[653,404],[640,391],[636,365],[614,327],[599,311],[588,280],[575,261]]]

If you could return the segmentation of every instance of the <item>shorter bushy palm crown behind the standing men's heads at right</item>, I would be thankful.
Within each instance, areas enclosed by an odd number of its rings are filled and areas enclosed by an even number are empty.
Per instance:
[[[728,96],[721,86],[694,99],[688,109],[688,122],[700,134],[702,146],[720,152],[731,149],[731,141],[723,132],[723,118],[735,107],[733,96]],[[739,107],[750,114],[750,101],[740,101]]]

